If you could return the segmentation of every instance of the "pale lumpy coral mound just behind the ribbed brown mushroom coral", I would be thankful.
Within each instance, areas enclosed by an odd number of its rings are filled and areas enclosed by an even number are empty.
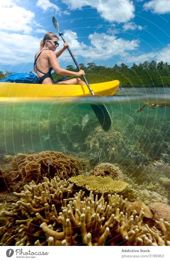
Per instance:
[[[160,202],[167,204],[168,199],[164,196],[159,195],[157,192],[149,191],[147,189],[144,190],[138,190],[138,201],[143,202],[145,205],[149,205],[151,203]]]

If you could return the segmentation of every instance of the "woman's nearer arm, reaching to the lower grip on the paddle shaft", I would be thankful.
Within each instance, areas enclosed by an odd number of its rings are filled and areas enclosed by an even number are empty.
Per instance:
[[[79,72],[72,72],[66,69],[63,69],[60,67],[59,62],[57,61],[56,55],[53,51],[49,50],[48,59],[50,62],[51,67],[55,71],[55,73],[60,74],[62,76],[81,76],[85,75],[85,72],[83,70],[80,70]]]

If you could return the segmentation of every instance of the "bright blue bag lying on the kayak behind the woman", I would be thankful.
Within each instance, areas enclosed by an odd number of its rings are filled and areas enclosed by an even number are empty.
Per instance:
[[[1,79],[2,82],[17,82],[17,83],[38,83],[39,75],[33,71],[27,73],[13,73],[8,77]]]

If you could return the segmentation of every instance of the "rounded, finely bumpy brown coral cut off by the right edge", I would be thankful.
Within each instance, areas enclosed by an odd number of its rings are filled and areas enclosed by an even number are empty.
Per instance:
[[[153,203],[149,205],[149,209],[153,212],[153,219],[159,221],[164,219],[164,221],[170,222],[170,206],[163,203]]]

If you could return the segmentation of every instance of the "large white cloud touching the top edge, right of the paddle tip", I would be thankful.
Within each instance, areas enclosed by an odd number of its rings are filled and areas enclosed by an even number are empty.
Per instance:
[[[102,18],[109,22],[127,22],[134,18],[134,5],[130,0],[82,0],[68,1],[62,0],[69,9],[80,9],[83,6],[96,8]]]

